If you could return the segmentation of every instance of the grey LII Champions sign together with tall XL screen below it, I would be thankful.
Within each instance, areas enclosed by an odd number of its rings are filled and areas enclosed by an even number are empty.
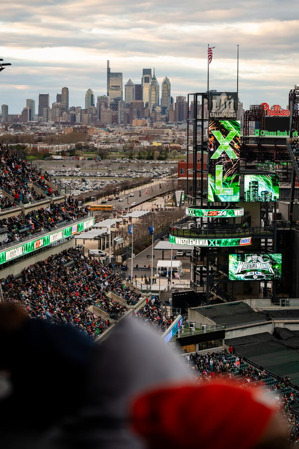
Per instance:
[[[208,201],[239,201],[240,121],[237,93],[210,92]]]

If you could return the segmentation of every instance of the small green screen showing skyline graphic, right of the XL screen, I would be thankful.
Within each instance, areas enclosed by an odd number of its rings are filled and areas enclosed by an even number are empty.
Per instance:
[[[244,175],[244,201],[279,201],[278,175]]]

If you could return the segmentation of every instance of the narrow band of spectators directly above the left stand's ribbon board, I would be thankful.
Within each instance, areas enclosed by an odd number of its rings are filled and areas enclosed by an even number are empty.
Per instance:
[[[0,245],[22,241],[32,235],[51,231],[59,224],[76,220],[88,215],[88,208],[78,208],[78,201],[68,197],[63,203],[51,203],[46,208],[31,211],[28,214],[21,212],[17,216],[0,220],[0,228],[7,232]]]

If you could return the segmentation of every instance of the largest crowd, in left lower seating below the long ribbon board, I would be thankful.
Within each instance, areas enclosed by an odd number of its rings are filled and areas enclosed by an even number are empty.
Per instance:
[[[17,279],[9,275],[0,282],[4,300],[22,304],[29,316],[67,322],[94,337],[107,329],[111,320],[121,318],[129,310],[109,297],[110,291],[128,301],[128,305],[140,298],[138,292],[124,285],[119,273],[86,257],[78,248],[29,265]],[[89,311],[92,305],[109,318]]]

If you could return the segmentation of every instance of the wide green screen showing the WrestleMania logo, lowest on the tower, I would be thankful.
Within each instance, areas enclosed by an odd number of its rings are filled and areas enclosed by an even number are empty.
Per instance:
[[[229,280],[274,280],[282,277],[282,254],[229,254]]]

